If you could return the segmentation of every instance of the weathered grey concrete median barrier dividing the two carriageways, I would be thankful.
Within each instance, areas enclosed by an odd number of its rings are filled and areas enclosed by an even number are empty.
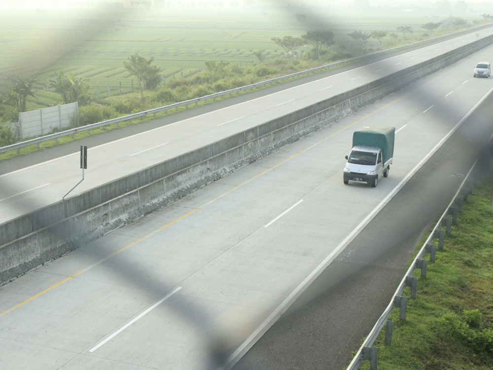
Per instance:
[[[210,184],[493,42],[482,39],[0,225],[0,284]]]

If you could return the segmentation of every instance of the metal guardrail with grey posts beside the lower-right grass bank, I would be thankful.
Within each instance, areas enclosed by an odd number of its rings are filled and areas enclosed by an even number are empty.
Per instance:
[[[417,295],[417,287],[418,287],[418,278],[416,276],[413,276],[413,273],[416,269],[420,268],[421,269],[421,275],[425,276],[426,275],[426,267],[427,267],[427,260],[423,259],[424,255],[426,253],[430,254],[430,262],[435,261],[435,254],[436,254],[436,244],[433,244],[432,241],[434,239],[438,239],[438,249],[442,250],[443,249],[443,243],[444,243],[444,238],[445,234],[450,234],[451,231],[451,226],[452,223],[457,222],[457,213],[462,210],[462,202],[463,198],[460,197],[461,194],[468,194],[472,191],[472,185],[468,183],[468,179],[474,170],[474,167],[476,166],[476,163],[472,166],[472,168],[469,170],[467,173],[467,176],[464,178],[462,183],[459,186],[458,191],[454,195],[452,201],[446,208],[445,212],[442,214],[440,217],[440,220],[436,223],[435,227],[433,228],[433,231],[431,231],[430,235],[426,239],[426,241],[423,244],[423,247],[420,249],[418,254],[416,255],[416,258],[413,260],[411,265],[409,266],[406,274],[402,278],[399,286],[397,287],[394,295],[390,299],[390,302],[385,309],[385,311],[382,313],[378,321],[376,322],[375,326],[371,330],[371,332],[368,334],[366,339],[364,340],[363,344],[361,344],[361,347],[359,347],[358,351],[354,355],[351,363],[349,364],[348,368],[346,370],[357,370],[359,368],[359,365],[361,365],[361,362],[363,360],[369,360],[370,361],[370,369],[377,369],[377,348],[372,347],[372,345],[375,343],[375,340],[377,339],[378,335],[384,328],[384,326],[387,324],[387,320],[390,317],[390,314],[392,313],[392,310],[394,307],[400,307],[401,312],[399,314],[400,317],[404,316],[405,317],[405,309],[406,309],[406,303],[407,303],[407,297],[402,296],[404,289],[406,287],[411,287],[411,298],[416,298]],[[451,216],[451,217],[450,217]],[[443,229],[445,227],[445,230]],[[402,311],[404,310],[404,314],[402,314]],[[403,318],[402,318],[403,319]],[[387,333],[386,333],[386,340],[387,340]]]

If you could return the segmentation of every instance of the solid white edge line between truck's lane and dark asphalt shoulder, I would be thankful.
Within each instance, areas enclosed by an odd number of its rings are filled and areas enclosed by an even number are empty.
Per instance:
[[[228,357],[225,370],[230,370],[233,366],[242,358],[242,356],[255,344],[260,337],[271,328],[274,323],[282,316],[284,312],[293,304],[293,302],[301,296],[301,294],[309,287],[315,279],[324,271],[328,265],[332,263],[332,259],[335,258],[342,249],[351,243],[351,241],[363,230],[363,228],[380,212],[382,208],[390,201],[390,199],[409,181],[413,175],[423,166],[423,164],[447,141],[448,138],[458,129],[458,127],[464,122],[471,113],[483,103],[483,101],[491,94],[493,88],[488,91],[486,95],[468,111],[460,121],[445,135],[438,144],[432,148],[428,154],[407,174],[404,179],[401,180],[388,194],[387,196],[371,211],[366,218],[359,223],[359,225],[352,230],[352,232],[322,261],[318,266],[287,296],[279,306],[267,316],[267,318],[248,336],[243,343]],[[492,135],[493,137],[493,135]]]

